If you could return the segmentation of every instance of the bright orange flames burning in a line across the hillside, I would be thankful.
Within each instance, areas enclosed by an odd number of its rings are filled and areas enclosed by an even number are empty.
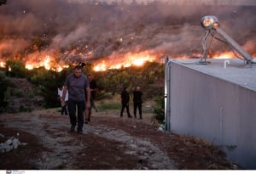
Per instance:
[[[255,57],[256,53],[253,53]],[[130,66],[143,67],[147,62],[161,62],[164,56],[160,54],[150,53],[126,53],[124,55],[115,55],[115,58],[102,58],[92,63],[92,69],[95,71],[105,71],[126,68]],[[199,58],[200,55],[194,53],[193,58]],[[190,59],[189,55],[178,55],[172,57],[172,59]],[[232,52],[216,53],[212,55],[212,59],[234,59],[236,55]],[[5,62],[0,60],[0,67],[5,67]],[[25,67],[27,70],[32,70],[39,67],[44,67],[45,70],[54,70],[60,72],[61,70],[68,68],[67,63],[57,63],[54,55],[45,55],[40,59],[27,59]]]

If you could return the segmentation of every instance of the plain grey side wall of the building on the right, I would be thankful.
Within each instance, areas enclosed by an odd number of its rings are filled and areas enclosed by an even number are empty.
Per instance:
[[[256,169],[256,93],[175,61],[167,66],[170,130],[207,139],[230,160]]]

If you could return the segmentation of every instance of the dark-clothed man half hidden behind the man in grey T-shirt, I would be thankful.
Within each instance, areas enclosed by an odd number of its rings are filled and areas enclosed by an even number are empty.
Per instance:
[[[84,112],[88,110],[88,114],[85,113],[85,123],[88,124],[90,123],[90,116],[91,116],[91,109],[96,109],[94,99],[96,98],[96,92],[98,91],[96,81],[93,80],[92,75],[87,75],[87,79],[90,82],[90,109],[85,109]],[[97,112],[97,109],[96,109]],[[86,117],[88,115],[88,117]]]

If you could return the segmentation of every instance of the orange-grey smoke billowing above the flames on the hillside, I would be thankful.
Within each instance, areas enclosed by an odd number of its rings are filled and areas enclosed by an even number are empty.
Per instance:
[[[131,53],[156,59],[166,54],[195,57],[202,51],[200,20],[208,14],[217,16],[224,31],[255,56],[255,6],[179,2],[185,4],[9,0],[0,7],[0,60],[36,62],[50,55],[56,64],[64,64],[118,62]],[[219,42],[212,47],[229,49]]]

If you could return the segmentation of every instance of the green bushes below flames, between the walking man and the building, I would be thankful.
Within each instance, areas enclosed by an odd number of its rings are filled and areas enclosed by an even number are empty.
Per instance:
[[[143,98],[153,98],[164,93],[164,65],[148,63],[143,68],[129,67],[120,70],[96,72],[95,79],[101,91],[105,93],[120,93],[127,87],[131,93],[140,86],[144,92]]]

